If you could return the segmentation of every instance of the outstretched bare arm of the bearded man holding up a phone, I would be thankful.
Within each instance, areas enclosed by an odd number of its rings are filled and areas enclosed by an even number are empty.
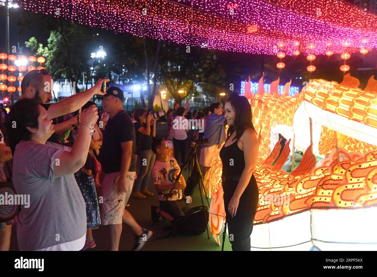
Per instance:
[[[101,91],[101,85],[103,82],[109,81],[110,79],[99,79],[94,87],[89,88],[89,90],[69,96],[60,102],[52,103],[47,110],[48,117],[53,119],[55,117],[73,113],[83,107],[95,94],[101,96],[106,94],[106,92]]]

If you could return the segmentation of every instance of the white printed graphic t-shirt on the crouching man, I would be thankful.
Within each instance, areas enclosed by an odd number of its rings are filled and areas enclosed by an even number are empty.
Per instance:
[[[181,167],[179,167],[177,161],[173,157],[169,157],[169,161],[167,163],[161,163],[160,161],[156,161],[155,165],[152,168],[152,178],[153,184],[157,185],[160,184],[162,186],[171,184],[175,182],[175,178],[178,176],[179,172],[181,171]],[[178,180],[178,183],[181,183]],[[165,195],[168,195],[170,192],[169,190],[165,190],[163,192],[158,193],[158,199],[160,201],[165,201]],[[182,190],[173,189],[172,197],[169,197],[169,201],[175,201],[182,198]]]

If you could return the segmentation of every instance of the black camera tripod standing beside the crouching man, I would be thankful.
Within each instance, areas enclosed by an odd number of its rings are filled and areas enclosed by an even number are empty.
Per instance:
[[[207,142],[208,144],[208,142]],[[196,155],[196,150],[198,148],[198,143],[194,142],[193,145],[192,145],[192,149],[191,149],[191,152],[190,152],[190,155],[189,157],[186,159],[186,161],[182,164],[181,166],[181,170],[178,174],[178,176],[176,177],[175,179],[175,182],[177,182],[179,180],[179,178],[181,177],[182,175],[182,172],[184,171],[184,169],[186,167],[192,167],[192,171],[196,171],[198,172],[199,174],[199,192],[200,192],[200,198],[201,198],[201,201],[202,201],[202,207],[203,209],[205,210],[207,207],[204,205],[204,199],[203,199],[203,193],[202,193],[202,190],[204,191],[204,194],[205,194],[205,198],[207,199],[207,203],[208,203],[208,209],[209,209],[209,201],[208,201],[208,195],[207,195],[207,192],[205,191],[204,189],[204,181],[203,181],[203,176],[202,176],[202,172],[200,170],[200,166],[199,166],[199,160],[198,160],[198,155]],[[196,183],[193,184],[193,188],[192,188],[192,191],[195,189],[196,187]],[[168,195],[166,196],[166,200],[165,202],[169,201],[168,198],[172,196],[172,192],[173,192],[173,188],[170,189]],[[159,212],[158,212],[158,215],[157,217],[153,220],[153,223],[152,223],[152,226],[153,227],[155,225],[155,221],[160,217],[161,215],[161,208],[159,209]],[[208,218],[206,216],[206,214],[204,213],[204,219],[205,219],[205,222],[207,222],[207,224],[205,225],[205,229],[207,230],[207,237],[208,239],[210,239],[210,235],[209,235],[209,230],[208,230]]]

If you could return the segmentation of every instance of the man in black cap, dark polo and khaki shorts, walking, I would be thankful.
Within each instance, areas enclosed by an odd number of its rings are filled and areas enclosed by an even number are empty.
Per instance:
[[[136,179],[135,129],[123,110],[123,91],[109,87],[102,100],[103,111],[110,114],[100,149],[101,165],[105,173],[102,183],[102,225],[110,225],[110,250],[118,251],[122,221],[129,225],[136,237],[133,250],[140,250],[152,236],[141,228],[129,211],[125,210]]]

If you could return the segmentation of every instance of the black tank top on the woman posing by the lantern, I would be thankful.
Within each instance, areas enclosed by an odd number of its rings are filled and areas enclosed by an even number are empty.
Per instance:
[[[237,141],[220,150],[223,175],[241,175],[245,169],[244,151],[238,148]]]

